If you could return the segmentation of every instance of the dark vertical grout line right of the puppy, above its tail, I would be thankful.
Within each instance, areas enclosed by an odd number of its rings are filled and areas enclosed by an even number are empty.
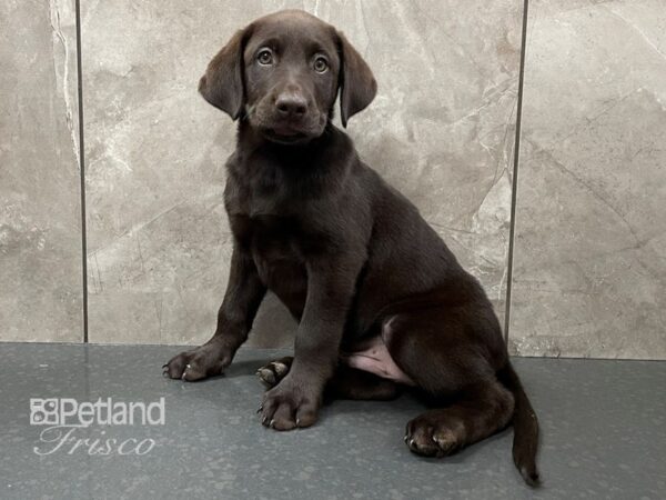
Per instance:
[[[506,269],[506,307],[504,312],[504,342],[508,346],[511,323],[511,292],[513,286],[514,239],[516,232],[516,201],[518,191],[518,164],[521,156],[521,124],[523,118],[523,84],[525,81],[525,52],[527,51],[527,9],[529,0],[523,3],[523,33],[521,36],[521,66],[518,71],[518,101],[516,109],[516,137],[514,141],[514,164],[511,190],[511,218],[508,229],[508,256]]]

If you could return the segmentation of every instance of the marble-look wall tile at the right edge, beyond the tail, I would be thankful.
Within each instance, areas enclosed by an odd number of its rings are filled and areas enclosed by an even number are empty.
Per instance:
[[[666,4],[528,12],[511,350],[666,359]]]

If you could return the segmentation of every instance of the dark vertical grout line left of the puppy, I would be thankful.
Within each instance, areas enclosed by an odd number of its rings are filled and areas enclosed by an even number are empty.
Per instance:
[[[81,71],[81,4],[74,0],[77,22],[77,87],[79,99],[79,169],[81,172],[81,270],[83,288],[83,343],[88,343],[88,233],[85,226],[85,147],[83,143],[83,73]]]

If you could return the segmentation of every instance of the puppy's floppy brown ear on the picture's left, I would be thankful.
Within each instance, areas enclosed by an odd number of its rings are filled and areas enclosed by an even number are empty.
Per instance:
[[[243,86],[243,50],[249,29],[236,31],[211,60],[199,80],[203,98],[236,120],[245,102]]]

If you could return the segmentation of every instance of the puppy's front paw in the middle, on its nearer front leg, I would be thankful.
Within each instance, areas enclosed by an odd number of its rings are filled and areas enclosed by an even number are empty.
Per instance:
[[[316,422],[321,393],[311,391],[306,384],[285,379],[281,384],[264,392],[260,408],[261,423],[275,430],[310,427]]]

